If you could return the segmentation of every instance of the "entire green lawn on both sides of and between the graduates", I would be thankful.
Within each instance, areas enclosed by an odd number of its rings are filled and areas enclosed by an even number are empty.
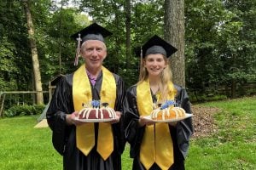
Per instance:
[[[256,97],[201,105],[220,109],[214,114],[218,131],[191,140],[186,169],[256,169]],[[0,169],[62,169],[61,156],[51,144],[49,128],[34,128],[37,118],[0,119]],[[122,159],[123,169],[131,169],[128,144]]]

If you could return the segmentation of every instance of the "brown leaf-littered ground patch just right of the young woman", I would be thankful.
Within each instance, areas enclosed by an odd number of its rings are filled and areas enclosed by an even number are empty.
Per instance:
[[[215,107],[203,107],[192,105],[194,134],[192,139],[207,137],[218,131],[218,127],[214,124],[213,115],[220,111]]]

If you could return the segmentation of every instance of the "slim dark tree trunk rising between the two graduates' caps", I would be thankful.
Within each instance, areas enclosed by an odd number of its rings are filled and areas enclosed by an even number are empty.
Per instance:
[[[131,0],[126,0],[126,68],[130,67],[131,58]]]

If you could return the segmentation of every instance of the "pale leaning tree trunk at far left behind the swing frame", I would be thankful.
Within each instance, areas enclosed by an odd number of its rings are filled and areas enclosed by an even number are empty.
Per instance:
[[[32,14],[30,11],[29,0],[23,0],[23,4],[25,8],[25,13],[26,13],[27,31],[28,31],[28,37],[29,37],[31,52],[32,52],[32,66],[33,66],[34,82],[35,82],[35,88],[36,88],[35,90],[41,92],[37,94],[37,104],[44,104],[41,74],[39,70],[38,49],[36,45],[36,40],[34,38],[34,27],[32,23]]]

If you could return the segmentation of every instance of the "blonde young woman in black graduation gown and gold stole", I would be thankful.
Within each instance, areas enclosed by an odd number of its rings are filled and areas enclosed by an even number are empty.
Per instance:
[[[184,169],[184,159],[193,132],[191,118],[180,122],[155,123],[148,116],[166,100],[191,113],[185,89],[172,83],[168,57],[177,51],[158,36],[146,42],[141,51],[139,82],[126,90],[125,138],[131,144],[134,170]]]

